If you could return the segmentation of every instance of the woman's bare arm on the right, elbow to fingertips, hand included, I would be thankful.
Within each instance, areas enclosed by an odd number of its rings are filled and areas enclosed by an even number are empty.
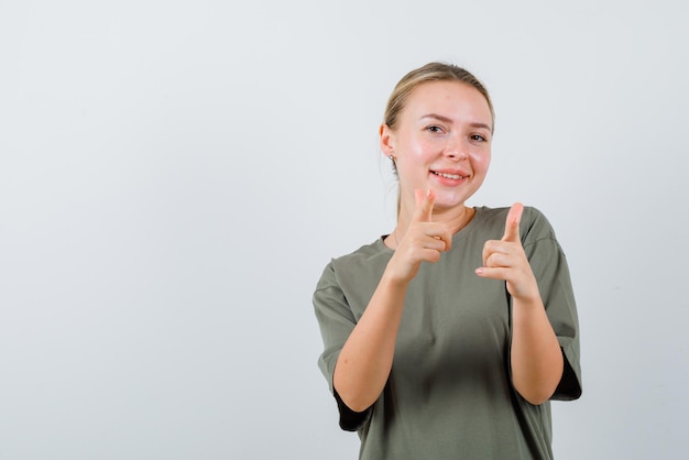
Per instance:
[[[512,384],[529,403],[546,402],[562,376],[564,358],[538,292],[538,284],[520,240],[524,207],[516,204],[507,215],[505,234],[488,241],[479,276],[505,280],[512,295]]]

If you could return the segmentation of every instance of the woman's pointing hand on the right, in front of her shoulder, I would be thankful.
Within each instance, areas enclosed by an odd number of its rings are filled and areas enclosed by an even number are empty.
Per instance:
[[[485,242],[483,266],[477,269],[477,274],[486,278],[504,280],[512,297],[532,300],[540,298],[540,294],[520,238],[522,212],[524,212],[524,205],[521,202],[510,208],[505,233],[501,240]]]

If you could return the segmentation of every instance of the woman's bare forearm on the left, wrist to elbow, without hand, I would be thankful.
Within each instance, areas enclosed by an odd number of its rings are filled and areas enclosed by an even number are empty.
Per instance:
[[[352,410],[370,407],[385,386],[405,294],[406,282],[397,283],[384,276],[340,351],[332,382]]]

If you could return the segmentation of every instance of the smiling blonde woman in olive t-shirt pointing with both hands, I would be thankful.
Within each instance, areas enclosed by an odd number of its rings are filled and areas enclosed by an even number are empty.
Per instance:
[[[333,259],[314,294],[319,366],[361,459],[550,459],[550,399],[581,394],[565,255],[536,209],[470,208],[493,108],[469,72],[400,80],[380,144],[397,224]]]

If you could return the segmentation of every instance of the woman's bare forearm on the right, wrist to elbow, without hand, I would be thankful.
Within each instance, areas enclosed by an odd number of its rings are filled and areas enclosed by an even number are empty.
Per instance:
[[[545,403],[562,376],[564,358],[540,297],[513,298],[512,383],[529,403]]]

